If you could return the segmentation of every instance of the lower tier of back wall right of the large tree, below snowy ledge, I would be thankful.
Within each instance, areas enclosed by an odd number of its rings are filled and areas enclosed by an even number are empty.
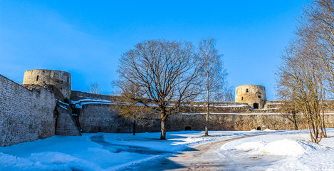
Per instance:
[[[168,131],[185,130],[186,127],[192,130],[204,130],[204,114],[195,115],[172,115],[168,119]],[[307,129],[306,123],[302,122],[303,115],[298,115],[298,128]],[[176,124],[173,124],[176,123]],[[334,115],[325,115],[327,128],[334,127]],[[283,115],[270,113],[243,113],[243,114],[212,114],[209,116],[209,130],[252,130],[261,128],[272,130],[294,129],[293,123],[284,118]]]

